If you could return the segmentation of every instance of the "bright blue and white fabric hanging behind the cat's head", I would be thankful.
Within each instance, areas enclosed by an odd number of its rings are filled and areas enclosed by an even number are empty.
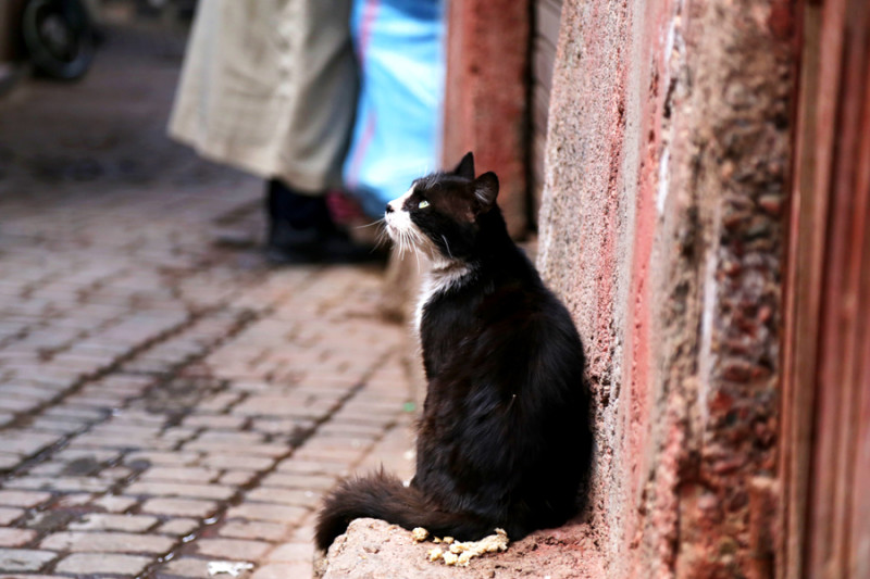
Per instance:
[[[353,2],[361,86],[343,173],[372,216],[440,165],[444,20],[442,0]]]

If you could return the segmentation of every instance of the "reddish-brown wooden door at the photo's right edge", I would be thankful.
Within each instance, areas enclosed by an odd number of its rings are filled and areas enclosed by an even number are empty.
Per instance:
[[[803,0],[776,575],[870,577],[870,2]]]

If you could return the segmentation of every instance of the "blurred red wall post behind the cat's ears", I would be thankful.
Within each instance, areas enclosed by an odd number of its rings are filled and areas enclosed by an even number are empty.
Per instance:
[[[529,0],[451,0],[448,7],[444,164],[474,151],[499,177],[514,237],[529,225],[526,185]]]

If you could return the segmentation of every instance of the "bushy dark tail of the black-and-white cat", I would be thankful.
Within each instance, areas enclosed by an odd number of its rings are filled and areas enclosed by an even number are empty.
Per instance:
[[[369,477],[347,479],[332,491],[318,517],[315,541],[326,550],[355,518],[380,518],[408,530],[423,527],[437,537],[474,540],[494,532],[492,521],[470,513],[448,513],[419,489],[381,470]]]

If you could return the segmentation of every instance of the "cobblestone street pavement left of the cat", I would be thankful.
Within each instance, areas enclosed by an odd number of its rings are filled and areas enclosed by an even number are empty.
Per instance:
[[[337,477],[410,468],[382,273],[214,246],[261,184],[163,137],[179,46],[0,101],[2,578],[309,577]]]

